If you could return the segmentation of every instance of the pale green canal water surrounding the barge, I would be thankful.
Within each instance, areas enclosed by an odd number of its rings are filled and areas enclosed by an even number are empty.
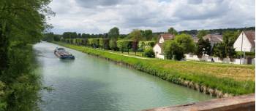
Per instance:
[[[56,44],[34,45],[43,86],[43,111],[145,110],[212,99],[184,86],[153,75],[119,66],[105,59],[67,49],[75,60],[61,60],[53,54]]]

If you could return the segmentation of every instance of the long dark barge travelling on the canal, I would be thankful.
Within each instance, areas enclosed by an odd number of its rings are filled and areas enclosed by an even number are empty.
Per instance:
[[[75,59],[75,56],[67,52],[64,48],[55,49],[54,54],[59,57],[59,59]]]

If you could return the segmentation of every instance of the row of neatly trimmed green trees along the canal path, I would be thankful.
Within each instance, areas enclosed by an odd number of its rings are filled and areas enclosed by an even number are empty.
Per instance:
[[[110,40],[109,38],[65,38],[61,41],[68,44],[91,46],[93,48],[100,49],[111,49],[115,51],[128,52],[144,52],[145,57],[154,57],[154,52],[152,47],[154,46],[154,41],[132,41],[132,40]],[[147,50],[146,50],[147,49]]]

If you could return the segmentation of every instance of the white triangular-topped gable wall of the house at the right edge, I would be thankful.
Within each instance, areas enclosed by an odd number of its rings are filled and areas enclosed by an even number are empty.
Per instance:
[[[242,32],[244,33],[244,32]],[[241,52],[241,42],[242,42],[242,33],[236,39],[233,47],[236,49],[236,52]],[[249,42],[248,38],[245,36],[243,37],[243,52],[252,52],[252,44]]]

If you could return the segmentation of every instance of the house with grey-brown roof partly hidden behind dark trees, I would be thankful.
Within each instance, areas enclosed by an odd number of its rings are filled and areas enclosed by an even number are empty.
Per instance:
[[[203,39],[208,39],[211,43],[211,48],[214,46],[214,44],[221,43],[223,41],[222,35],[219,34],[207,34],[206,36],[203,36]]]

